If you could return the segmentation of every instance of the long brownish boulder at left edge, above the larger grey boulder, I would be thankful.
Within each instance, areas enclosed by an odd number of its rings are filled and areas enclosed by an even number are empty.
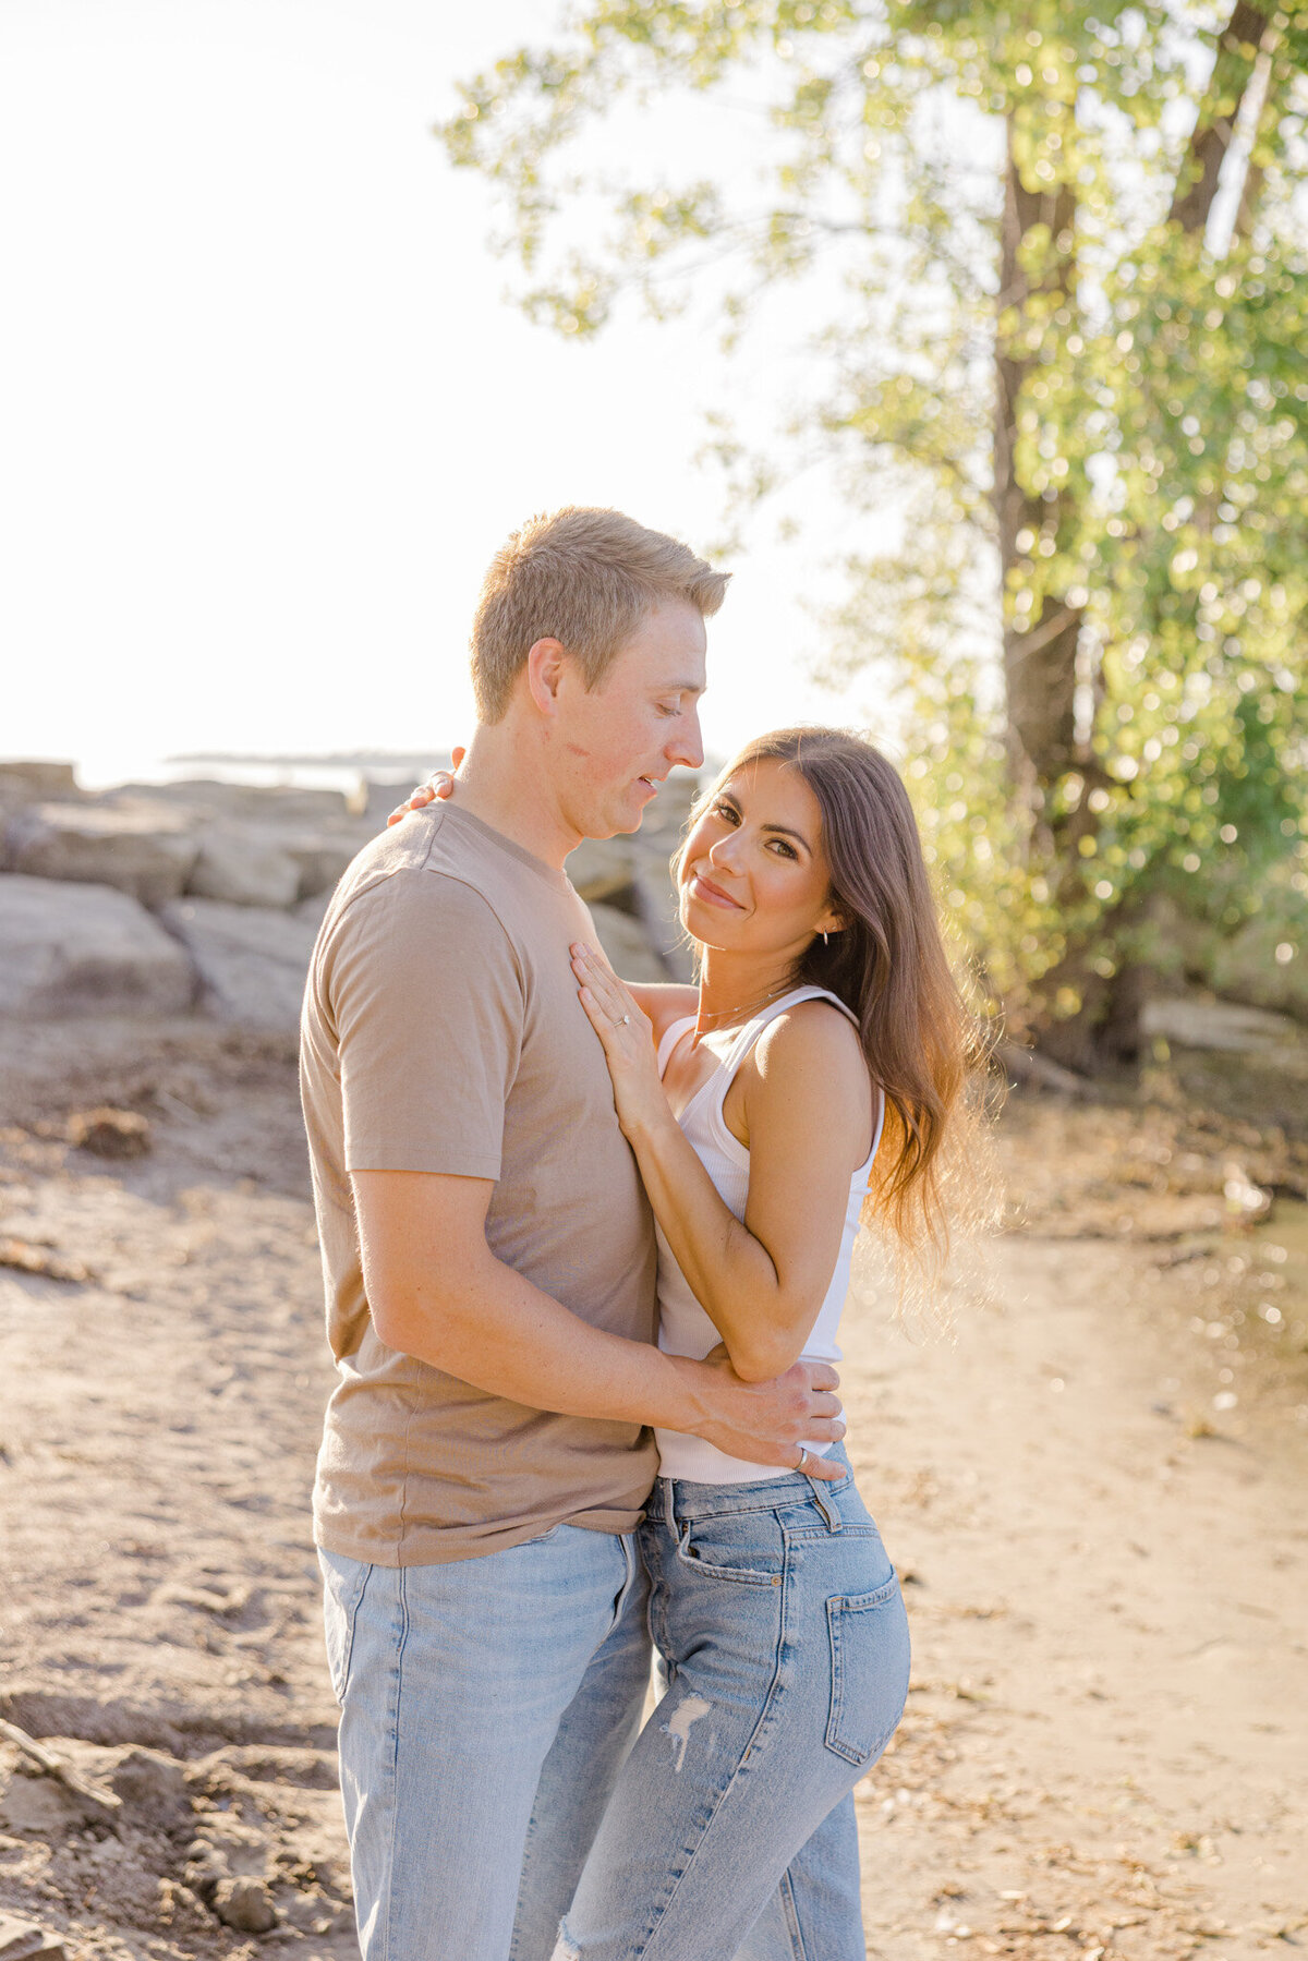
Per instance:
[[[155,798],[33,804],[4,828],[8,871],[110,884],[143,906],[165,906],[176,898],[198,851],[186,814]]]

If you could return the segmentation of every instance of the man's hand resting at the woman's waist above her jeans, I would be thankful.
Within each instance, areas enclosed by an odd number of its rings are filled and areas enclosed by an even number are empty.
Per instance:
[[[692,1367],[700,1373],[696,1392],[702,1404],[694,1435],[726,1451],[728,1457],[796,1471],[800,1445],[839,1443],[845,1435],[839,1398],[833,1394],[839,1377],[830,1363],[796,1361],[771,1383],[741,1383],[726,1345],[718,1343]],[[808,1477],[826,1481],[845,1477],[843,1463],[828,1463],[814,1455],[808,1457],[806,1471]]]

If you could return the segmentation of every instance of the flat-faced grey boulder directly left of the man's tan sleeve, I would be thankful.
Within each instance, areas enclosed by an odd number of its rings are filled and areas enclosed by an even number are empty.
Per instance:
[[[294,1033],[310,953],[318,937],[308,920],[261,906],[226,906],[184,898],[165,912],[184,941],[204,984],[204,1006],[220,1022]]]

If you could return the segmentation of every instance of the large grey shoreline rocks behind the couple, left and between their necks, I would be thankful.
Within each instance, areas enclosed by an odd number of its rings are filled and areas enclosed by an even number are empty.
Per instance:
[[[0,763],[0,1012],[200,1016],[294,1033],[327,898],[408,782],[339,790],[194,779],[90,794],[69,763]],[[614,965],[688,977],[667,861],[696,779],[569,875]]]

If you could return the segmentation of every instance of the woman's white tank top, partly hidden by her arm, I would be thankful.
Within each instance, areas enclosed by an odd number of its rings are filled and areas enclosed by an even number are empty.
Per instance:
[[[694,1155],[714,1181],[718,1196],[737,1220],[745,1218],[745,1198],[749,1196],[749,1151],[728,1130],[722,1106],[737,1069],[753,1049],[767,1024],[777,1020],[779,1014],[784,1014],[786,1008],[794,1008],[800,1000],[830,1000],[841,1010],[841,1014],[849,1016],[851,1022],[855,1020],[845,1002],[822,986],[798,986],[790,994],[782,994],[780,1000],[769,1002],[761,1014],[755,1014],[753,1020],[745,1022],[731,1041],[724,1061],[718,1063],[708,1082],[700,1084],[679,1118],[686,1139],[694,1147]],[[659,1043],[659,1075],[667,1069],[673,1049],[688,1028],[694,1028],[694,1016],[686,1016],[682,1022],[673,1022],[673,1026],[665,1031],[663,1041]],[[849,1181],[845,1232],[839,1241],[839,1255],[835,1259],[835,1271],[831,1273],[831,1284],[826,1290],[826,1298],[818,1310],[818,1320],[814,1322],[812,1333],[804,1345],[804,1361],[839,1361],[835,1332],[839,1328],[845,1294],[849,1290],[853,1241],[859,1232],[859,1214],[867,1196],[867,1177],[873,1169],[873,1159],[877,1157],[877,1145],[880,1143],[884,1114],[886,1100],[882,1092],[877,1090],[873,1149]],[[692,1355],[696,1361],[702,1361],[710,1349],[718,1347],[722,1335],[690,1292],[686,1277],[677,1265],[677,1257],[673,1255],[661,1228],[655,1230],[659,1233],[659,1347],[667,1355]],[[690,1437],[679,1430],[655,1430],[655,1437],[659,1439],[663,1477],[682,1477],[696,1484],[749,1484],[759,1479],[777,1477],[777,1465],[753,1465],[745,1463],[741,1457],[728,1457],[724,1451],[714,1449],[712,1443],[706,1443],[704,1437]],[[824,1451],[830,1451],[831,1445],[810,1443],[808,1449],[822,1455]]]

